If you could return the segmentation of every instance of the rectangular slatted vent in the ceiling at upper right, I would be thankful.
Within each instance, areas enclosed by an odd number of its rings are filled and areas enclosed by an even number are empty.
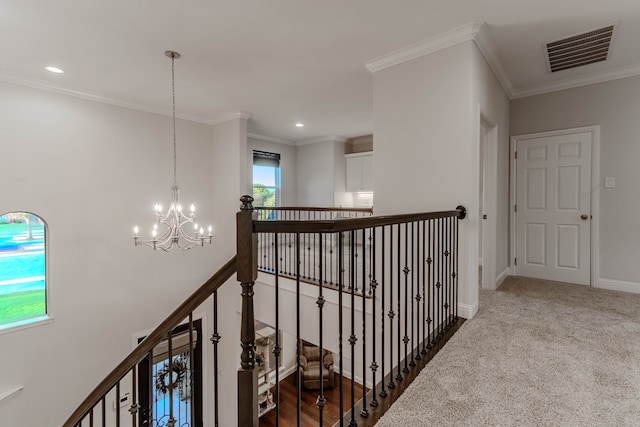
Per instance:
[[[556,40],[545,45],[550,72],[606,61],[616,25]]]

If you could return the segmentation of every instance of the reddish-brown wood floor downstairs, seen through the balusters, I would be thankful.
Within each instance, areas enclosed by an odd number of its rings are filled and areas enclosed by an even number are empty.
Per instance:
[[[325,390],[324,397],[327,401],[323,410],[323,426],[332,426],[340,419],[340,387],[338,386],[340,377],[335,374],[336,387]],[[351,408],[351,380],[342,378],[343,390],[343,409],[346,412]],[[368,391],[368,390],[367,390]],[[272,389],[275,397],[275,388]],[[296,388],[295,373],[289,375],[280,381],[280,402],[278,404],[280,412],[280,427],[297,426],[297,398],[298,391]],[[317,390],[303,390],[302,402],[300,404],[300,425],[301,426],[317,426],[319,423],[319,410],[316,406],[318,398]],[[354,399],[357,403],[362,399],[362,386],[355,385]],[[260,427],[275,427],[277,408],[271,410],[260,418]]]

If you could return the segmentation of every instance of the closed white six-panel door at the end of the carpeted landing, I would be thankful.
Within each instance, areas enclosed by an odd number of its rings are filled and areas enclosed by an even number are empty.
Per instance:
[[[517,141],[519,276],[589,285],[592,135]]]

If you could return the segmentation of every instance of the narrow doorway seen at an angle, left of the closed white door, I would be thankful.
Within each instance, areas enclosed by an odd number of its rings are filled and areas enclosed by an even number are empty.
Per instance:
[[[481,115],[478,176],[478,286],[496,289],[498,127]]]

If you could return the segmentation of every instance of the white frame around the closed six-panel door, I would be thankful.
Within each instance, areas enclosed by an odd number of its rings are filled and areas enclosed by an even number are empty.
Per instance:
[[[590,284],[591,287],[598,286],[599,275],[599,252],[600,247],[600,125],[583,126],[569,129],[558,129],[546,132],[528,133],[523,135],[514,135],[511,137],[511,144],[509,147],[509,216],[510,220],[510,242],[511,248],[509,251],[510,259],[510,274],[516,275],[517,265],[514,265],[516,258],[516,149],[518,141],[523,141],[532,138],[544,138],[549,136],[568,135],[572,133],[591,132],[591,240],[590,240]]]

